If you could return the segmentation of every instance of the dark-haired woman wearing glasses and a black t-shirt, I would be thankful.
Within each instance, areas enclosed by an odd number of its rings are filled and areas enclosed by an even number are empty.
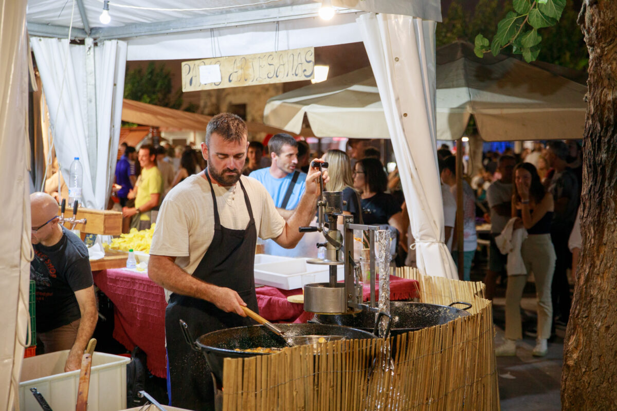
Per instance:
[[[354,165],[354,189],[362,198],[364,224],[388,224],[399,231],[402,239],[405,230],[400,204],[394,196],[386,193],[387,176],[381,161],[363,158]]]

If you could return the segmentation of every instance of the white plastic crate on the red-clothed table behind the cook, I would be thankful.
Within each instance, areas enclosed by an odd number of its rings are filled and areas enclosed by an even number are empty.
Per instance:
[[[255,282],[282,290],[302,288],[302,276],[315,276],[313,282],[324,283],[330,279],[329,266],[309,264],[309,258],[289,258],[286,261],[255,264]],[[345,277],[344,266],[337,267],[337,280]]]

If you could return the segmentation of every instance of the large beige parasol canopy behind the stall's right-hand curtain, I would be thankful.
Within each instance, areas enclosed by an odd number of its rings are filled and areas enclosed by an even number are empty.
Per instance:
[[[315,136],[389,138],[375,65],[268,100],[263,120],[299,132],[304,115]],[[437,139],[460,139],[474,116],[482,139],[579,139],[587,87],[563,68],[505,55],[478,59],[469,43],[437,50]]]

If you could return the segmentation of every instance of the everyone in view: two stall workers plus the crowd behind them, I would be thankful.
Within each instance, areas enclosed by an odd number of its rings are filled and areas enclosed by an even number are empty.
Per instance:
[[[581,147],[576,141],[551,141],[520,154],[487,152],[482,170],[462,180],[462,242],[454,229],[458,153],[442,147],[436,155],[444,240],[457,264],[461,257],[462,280],[471,280],[477,260],[476,222],[481,218],[491,224],[487,297],[495,295],[498,280],[507,283],[506,340],[495,354],[516,354],[516,340],[523,335],[521,297],[533,275],[537,327],[526,332],[537,338],[532,354],[545,356],[555,327],[569,318],[567,271],[576,267],[573,256],[581,247]],[[317,161],[328,162],[325,172],[310,163],[312,157],[306,142],[285,133],[272,136],[267,146],[247,142],[246,124],[230,113],[212,118],[201,150],[123,147],[113,190],[125,218],[123,229],[145,229],[157,221],[148,275],[165,288],[168,299],[170,404],[194,409],[213,401],[213,392],[193,389],[210,372],[204,357],[184,342],[178,319],[189,316],[198,335],[252,324],[242,307],[257,311],[251,258],[257,237],[295,248],[302,238],[299,227],[315,219],[320,176],[326,190],[342,192],[343,214],[355,223],[391,230],[397,266],[415,264],[400,175],[397,169],[386,173],[379,150],[350,140],[347,152],[320,153]],[[33,193],[30,200],[37,349],[70,350],[65,370],[75,370],[97,320],[88,251],[57,223],[54,197]]]

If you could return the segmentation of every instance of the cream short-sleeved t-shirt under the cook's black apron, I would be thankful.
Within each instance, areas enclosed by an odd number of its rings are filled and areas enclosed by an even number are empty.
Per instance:
[[[241,176],[251,201],[257,236],[263,239],[281,235],[285,220],[276,211],[270,194],[255,179]],[[240,183],[222,187],[212,183],[218,214],[223,227],[246,229],[249,213]],[[173,187],[160,207],[150,254],[177,257],[175,263],[193,274],[208,250],[214,235],[214,213],[210,185],[201,174],[193,174]],[[170,292],[165,290],[169,299]]]

